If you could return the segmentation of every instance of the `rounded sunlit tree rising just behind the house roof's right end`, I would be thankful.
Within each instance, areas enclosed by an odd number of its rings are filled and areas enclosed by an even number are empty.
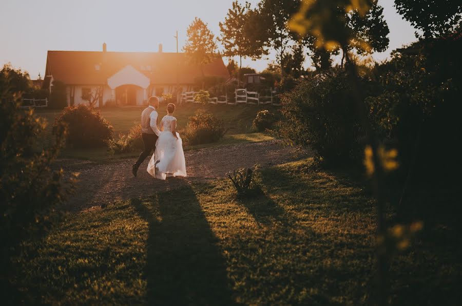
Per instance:
[[[217,53],[217,44],[214,34],[208,29],[200,18],[194,18],[189,25],[186,35],[188,37],[183,47],[189,60],[195,64],[210,63],[213,55]]]

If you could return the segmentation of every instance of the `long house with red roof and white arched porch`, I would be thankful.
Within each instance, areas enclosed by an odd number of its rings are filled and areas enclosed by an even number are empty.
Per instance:
[[[48,51],[45,73],[50,90],[55,81],[66,84],[68,105],[98,106],[142,105],[151,95],[191,91],[204,77],[229,79],[221,57],[195,65],[185,53],[162,52],[162,45],[158,52],[110,52],[106,44],[102,51]]]

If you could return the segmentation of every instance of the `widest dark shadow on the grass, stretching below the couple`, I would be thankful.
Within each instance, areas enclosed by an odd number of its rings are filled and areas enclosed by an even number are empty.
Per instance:
[[[149,304],[234,304],[218,239],[190,187],[131,203],[149,223]]]

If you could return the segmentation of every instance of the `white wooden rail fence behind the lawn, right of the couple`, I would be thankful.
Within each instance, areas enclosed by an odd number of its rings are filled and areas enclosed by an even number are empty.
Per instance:
[[[183,92],[181,94],[181,103],[196,103],[194,102],[195,91]],[[257,91],[247,91],[245,88],[236,89],[234,91],[235,99],[231,102],[228,99],[228,95],[219,95],[218,97],[211,97],[208,99],[210,104],[251,104],[251,105],[265,105],[271,104],[279,106],[279,97],[277,92],[273,89],[268,89],[266,95],[263,95]]]

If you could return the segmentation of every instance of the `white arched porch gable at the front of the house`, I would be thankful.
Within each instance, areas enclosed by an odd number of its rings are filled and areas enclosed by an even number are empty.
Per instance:
[[[133,68],[133,66],[125,66],[117,73],[107,79],[107,85],[111,89],[111,99],[115,101],[115,88],[122,85],[136,85],[143,89],[143,100],[147,100],[147,88],[149,87],[149,78]],[[142,104],[143,101],[137,101],[137,104]]]

